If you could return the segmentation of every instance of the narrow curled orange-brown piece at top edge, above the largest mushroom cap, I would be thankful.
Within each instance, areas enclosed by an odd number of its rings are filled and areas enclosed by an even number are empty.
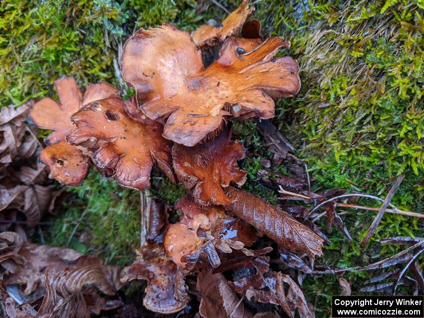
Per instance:
[[[240,6],[231,12],[222,23],[211,26],[202,25],[193,32],[192,38],[197,47],[207,49],[215,45],[216,41],[223,42],[227,37],[234,35],[246,21],[254,7],[249,7],[249,1],[243,0]]]

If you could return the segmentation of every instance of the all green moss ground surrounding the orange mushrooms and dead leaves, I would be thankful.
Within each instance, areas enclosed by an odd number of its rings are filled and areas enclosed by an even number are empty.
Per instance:
[[[192,30],[225,12],[209,1],[198,14],[195,0],[3,0],[0,4],[0,105],[54,96],[60,76],[74,76],[84,87],[107,80],[128,90],[117,61],[125,38],[139,27],[168,21]],[[229,10],[239,1],[220,0]],[[296,147],[313,176],[313,189],[341,187],[385,196],[393,179],[406,177],[393,198],[399,208],[423,212],[424,178],[424,2],[255,1],[254,16],[265,33],[290,40],[289,54],[301,68],[302,89],[277,103],[273,122]],[[267,145],[255,124],[239,123],[235,133],[250,136],[246,188],[271,199],[276,193],[256,181]],[[254,151],[252,151],[254,149]],[[279,168],[284,171],[283,167]],[[160,174],[152,192],[174,203],[185,190]],[[127,265],[139,245],[140,194],[123,189],[96,171],[70,196],[52,226],[43,226],[46,244],[98,253],[108,263]],[[363,204],[375,202],[360,201]],[[343,215],[352,242],[336,230],[328,234],[320,263],[366,265],[395,253],[380,246],[387,236],[424,236],[418,219],[386,214],[364,249],[375,212]],[[324,221],[323,221],[324,222]],[[323,223],[320,224],[325,227]],[[34,234],[34,240],[39,239]],[[346,274],[357,293],[370,273]],[[337,278],[322,276],[303,284],[318,317],[329,317],[330,296],[340,293]]]

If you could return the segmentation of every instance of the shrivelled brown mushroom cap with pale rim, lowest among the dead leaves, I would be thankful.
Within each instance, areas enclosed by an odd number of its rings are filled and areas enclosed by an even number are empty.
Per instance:
[[[172,314],[186,307],[188,296],[182,300],[176,297],[177,266],[166,255],[162,245],[147,244],[137,250],[137,259],[122,271],[121,282],[126,283],[134,279],[148,282],[143,299],[143,305],[148,310],[161,314]]]

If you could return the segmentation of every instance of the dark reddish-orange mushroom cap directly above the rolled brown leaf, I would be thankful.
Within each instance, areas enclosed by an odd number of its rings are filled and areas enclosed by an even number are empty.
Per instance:
[[[219,137],[195,147],[175,144],[172,150],[174,169],[193,197],[203,206],[227,205],[232,202],[222,190],[231,181],[241,186],[246,171],[237,167],[244,158],[240,141],[230,140],[231,132],[225,129]]]

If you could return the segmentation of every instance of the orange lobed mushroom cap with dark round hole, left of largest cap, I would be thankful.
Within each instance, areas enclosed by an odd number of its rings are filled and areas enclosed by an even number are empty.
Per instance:
[[[138,190],[148,187],[155,162],[175,182],[172,143],[162,137],[159,123],[143,115],[130,116],[129,103],[109,97],[84,106],[72,115],[77,129],[67,141],[93,149],[96,166],[111,171],[123,186]]]

